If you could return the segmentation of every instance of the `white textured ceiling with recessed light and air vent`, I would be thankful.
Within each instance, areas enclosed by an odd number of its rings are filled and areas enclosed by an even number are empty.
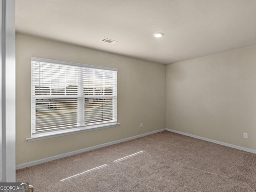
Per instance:
[[[16,0],[16,30],[169,64],[256,44],[256,0]]]

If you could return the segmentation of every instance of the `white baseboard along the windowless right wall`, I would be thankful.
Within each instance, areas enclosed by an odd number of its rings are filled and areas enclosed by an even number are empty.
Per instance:
[[[172,129],[166,129],[166,130],[170,131],[170,132],[178,133],[178,134],[181,134],[181,135],[194,137],[194,138],[197,138],[197,139],[209,141],[209,142],[212,142],[212,143],[216,143],[216,144],[220,144],[220,145],[224,145],[224,146],[228,146],[228,147],[231,147],[231,148],[235,148],[235,149],[239,149],[239,150],[243,150],[243,151],[247,151],[247,152],[256,154],[256,150],[253,150],[253,149],[240,147],[240,146],[237,146],[237,145],[232,145],[232,144],[228,144],[228,143],[224,143],[224,142],[220,142],[220,141],[216,141],[216,140],[212,140],[212,139],[208,139],[208,138],[204,138],[204,137],[200,137],[200,136],[196,136],[196,135],[192,135],[192,134],[188,134],[188,133],[184,133],[184,132],[180,132],[180,131],[176,131],[176,130],[172,130]]]

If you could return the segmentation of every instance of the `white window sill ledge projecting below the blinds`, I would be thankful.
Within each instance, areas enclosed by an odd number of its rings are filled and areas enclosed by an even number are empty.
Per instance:
[[[71,135],[76,133],[82,133],[86,131],[93,131],[98,129],[104,129],[104,128],[110,128],[110,127],[116,127],[119,126],[120,123],[108,123],[104,125],[93,125],[93,126],[86,126],[86,127],[78,127],[68,130],[59,130],[59,131],[52,131],[52,132],[46,132],[46,133],[38,133],[32,135],[30,138],[26,138],[28,142],[30,141],[37,141],[42,139],[48,139],[48,138],[54,138],[54,137],[60,137],[64,135]]]

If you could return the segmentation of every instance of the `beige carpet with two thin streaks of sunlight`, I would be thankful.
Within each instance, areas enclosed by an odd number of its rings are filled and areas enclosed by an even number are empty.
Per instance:
[[[20,169],[16,180],[34,192],[255,192],[256,154],[163,131]]]

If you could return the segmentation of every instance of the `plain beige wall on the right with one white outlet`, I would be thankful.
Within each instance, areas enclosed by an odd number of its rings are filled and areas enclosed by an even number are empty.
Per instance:
[[[256,46],[167,65],[166,128],[256,150]]]

